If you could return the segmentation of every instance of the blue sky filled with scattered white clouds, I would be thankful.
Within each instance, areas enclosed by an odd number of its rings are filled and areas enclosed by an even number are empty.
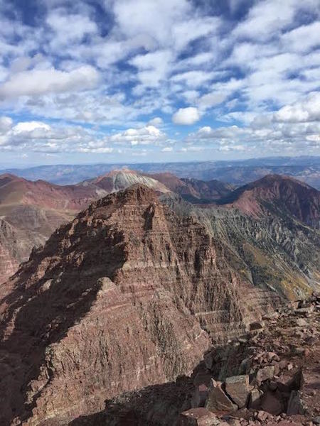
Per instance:
[[[0,166],[320,155],[320,0],[0,0]]]

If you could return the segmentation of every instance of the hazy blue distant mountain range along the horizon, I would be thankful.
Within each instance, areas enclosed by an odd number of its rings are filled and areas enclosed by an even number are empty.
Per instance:
[[[289,175],[320,189],[320,157],[270,157],[236,161],[188,163],[134,163],[95,165],[43,165],[25,169],[6,169],[28,180],[46,180],[59,185],[93,179],[111,170],[129,168],[142,173],[172,173],[179,178],[221,180],[231,185],[245,185],[268,174]]]

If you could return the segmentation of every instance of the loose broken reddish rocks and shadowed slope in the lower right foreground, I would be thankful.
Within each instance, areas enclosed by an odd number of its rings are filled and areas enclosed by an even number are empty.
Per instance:
[[[193,371],[107,401],[74,425],[320,424],[320,295],[292,302],[216,346]]]

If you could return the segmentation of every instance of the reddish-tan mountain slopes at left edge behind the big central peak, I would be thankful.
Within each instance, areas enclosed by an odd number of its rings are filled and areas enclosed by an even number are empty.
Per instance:
[[[0,283],[28,259],[33,246],[43,244],[60,224],[105,194],[95,187],[60,187],[0,175]]]

